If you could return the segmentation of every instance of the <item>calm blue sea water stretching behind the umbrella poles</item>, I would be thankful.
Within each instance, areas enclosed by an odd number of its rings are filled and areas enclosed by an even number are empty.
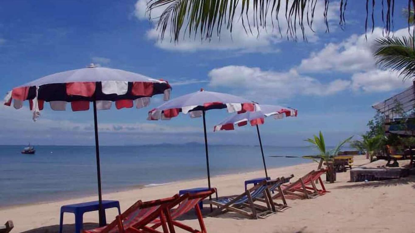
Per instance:
[[[94,146],[0,146],[0,207],[96,194]],[[265,146],[266,155],[315,154],[308,147]],[[204,146],[101,146],[103,192],[206,177]],[[262,169],[258,146],[209,146],[210,174]],[[306,163],[302,158],[266,158],[268,167]]]

